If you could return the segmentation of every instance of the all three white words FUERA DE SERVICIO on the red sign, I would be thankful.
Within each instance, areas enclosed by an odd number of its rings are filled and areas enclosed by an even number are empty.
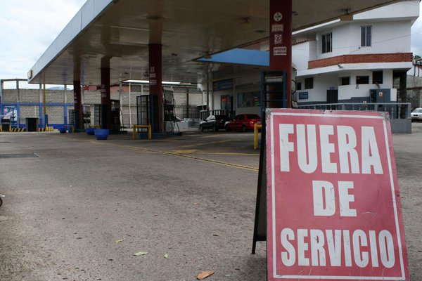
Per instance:
[[[279,124],[279,145],[281,172],[300,169],[305,174],[383,174],[372,126],[362,126],[357,133],[352,126]],[[293,167],[296,163],[298,166]],[[352,181],[314,180],[310,188],[314,216],[357,217],[357,209],[350,207],[355,201]],[[279,239],[284,266],[395,266],[389,230],[283,228]]]

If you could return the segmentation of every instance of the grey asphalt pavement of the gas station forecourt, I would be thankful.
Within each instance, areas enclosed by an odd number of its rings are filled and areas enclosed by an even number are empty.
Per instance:
[[[393,136],[412,280],[422,276],[422,123]],[[152,141],[0,133],[0,280],[266,280],[251,254],[252,133]],[[134,254],[138,254],[137,256]]]

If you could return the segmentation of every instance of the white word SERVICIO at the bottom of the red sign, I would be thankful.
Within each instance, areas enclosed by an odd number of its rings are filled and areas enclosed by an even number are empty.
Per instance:
[[[309,236],[309,239],[305,240]],[[385,268],[395,265],[395,252],[392,234],[388,230],[319,230],[298,229],[297,233],[290,228],[281,230],[281,245],[286,251],[281,251],[281,262],[284,266],[347,266],[353,264],[359,268],[380,266]],[[292,244],[296,240],[297,247]],[[310,244],[310,245],[309,245]],[[310,249],[309,249],[310,246]],[[328,253],[324,249],[328,247]],[[363,248],[368,248],[363,250]],[[310,254],[306,254],[310,250]],[[344,253],[342,253],[342,250]],[[378,257],[379,250],[379,257]],[[371,259],[370,259],[371,257]],[[371,261],[371,263],[370,263]]]

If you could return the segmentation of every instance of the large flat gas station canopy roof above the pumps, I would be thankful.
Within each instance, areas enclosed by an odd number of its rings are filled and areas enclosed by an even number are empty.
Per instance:
[[[397,1],[293,0],[293,30]],[[35,63],[34,84],[148,79],[148,44],[162,44],[162,80],[197,83],[194,60],[269,37],[269,0],[88,0]],[[45,79],[45,80],[44,80]]]

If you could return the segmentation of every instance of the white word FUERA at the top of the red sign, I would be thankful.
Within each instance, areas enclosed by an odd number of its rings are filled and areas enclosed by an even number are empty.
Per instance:
[[[321,164],[322,173],[383,174],[373,127],[362,126],[360,155],[357,152],[356,132],[351,126],[335,126],[338,145],[330,143],[334,126],[319,125],[320,155],[316,150],[316,126],[305,124],[280,124],[280,169],[290,171],[290,153],[296,153],[300,170],[312,174]],[[296,150],[289,135],[296,134]],[[331,162],[331,154],[338,152],[339,162]],[[350,163],[350,165],[349,165]],[[340,168],[340,170],[339,170]]]

